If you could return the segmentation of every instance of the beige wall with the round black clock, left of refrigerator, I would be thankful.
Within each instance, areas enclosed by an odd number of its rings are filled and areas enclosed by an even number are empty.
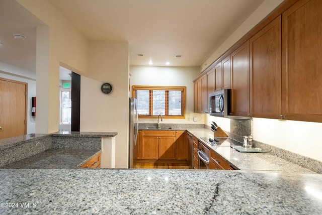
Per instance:
[[[81,131],[117,132],[115,167],[128,166],[128,43],[91,42],[89,74],[81,77]],[[113,92],[101,92],[109,82]]]

